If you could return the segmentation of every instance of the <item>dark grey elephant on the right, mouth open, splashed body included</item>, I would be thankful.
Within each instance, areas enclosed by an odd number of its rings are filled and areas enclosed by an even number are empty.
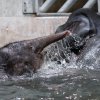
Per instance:
[[[76,64],[100,69],[100,16],[89,9],[79,9],[56,32],[65,30],[70,30],[72,36],[65,37],[62,43],[77,55]]]

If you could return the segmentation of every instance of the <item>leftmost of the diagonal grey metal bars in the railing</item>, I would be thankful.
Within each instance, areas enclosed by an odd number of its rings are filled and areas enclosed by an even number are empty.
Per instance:
[[[46,0],[44,4],[39,8],[40,12],[47,12],[47,10],[55,3],[56,0]]]

